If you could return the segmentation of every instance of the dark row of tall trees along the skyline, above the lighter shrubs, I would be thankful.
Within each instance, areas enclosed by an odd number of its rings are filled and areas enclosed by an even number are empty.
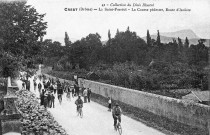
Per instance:
[[[42,42],[43,57],[51,66],[60,65],[63,70],[84,68],[90,70],[99,64],[113,65],[115,63],[134,62],[137,65],[148,66],[151,61],[161,61],[169,64],[176,62],[204,68],[208,65],[208,47],[205,40],[190,45],[188,38],[182,41],[179,37],[169,43],[162,43],[159,31],[157,39],[151,39],[147,31],[147,41],[140,38],[136,32],[117,30],[114,37],[108,31],[108,40],[102,44],[101,36],[89,34],[81,40],[72,43],[67,32],[65,46],[46,39]],[[46,63],[46,64],[47,64]]]

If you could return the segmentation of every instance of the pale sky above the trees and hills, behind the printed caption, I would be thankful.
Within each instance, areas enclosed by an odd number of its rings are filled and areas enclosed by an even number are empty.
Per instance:
[[[133,4],[152,4],[151,7]],[[38,13],[44,14],[48,22],[44,39],[64,43],[65,32],[72,41],[80,40],[90,33],[99,33],[101,40],[108,39],[108,30],[114,37],[117,29],[125,31],[129,26],[138,36],[183,29],[193,30],[198,37],[210,39],[210,0],[27,0]],[[102,6],[105,4],[105,6]],[[131,6],[113,6],[131,4]],[[79,11],[79,8],[95,8],[95,11]],[[77,11],[65,11],[77,8]],[[127,8],[127,11],[99,11],[105,8]],[[164,11],[131,11],[133,9],[164,9]],[[166,11],[168,9],[190,9],[190,11]]]

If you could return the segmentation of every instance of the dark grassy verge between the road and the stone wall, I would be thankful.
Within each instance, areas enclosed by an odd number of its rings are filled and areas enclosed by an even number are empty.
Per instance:
[[[93,93],[91,99],[103,106],[108,106],[108,99],[101,95]],[[208,135],[207,130],[194,128],[168,118],[155,115],[137,107],[133,107],[119,101],[117,102],[122,108],[124,115],[140,121],[149,127],[153,127],[167,135]]]

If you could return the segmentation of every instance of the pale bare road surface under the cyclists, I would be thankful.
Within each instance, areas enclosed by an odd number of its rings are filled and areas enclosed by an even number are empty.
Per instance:
[[[33,83],[31,79],[31,91]],[[21,82],[18,82],[21,87]],[[38,83],[37,83],[38,84]],[[36,90],[38,96],[38,90]],[[95,102],[85,103],[83,107],[83,118],[76,114],[75,98],[67,101],[63,96],[63,102],[59,105],[57,96],[55,98],[55,108],[48,109],[55,120],[63,126],[69,135],[117,135],[113,127],[113,118],[107,108]],[[163,133],[148,127],[141,122],[122,115],[123,135],[164,135]]]

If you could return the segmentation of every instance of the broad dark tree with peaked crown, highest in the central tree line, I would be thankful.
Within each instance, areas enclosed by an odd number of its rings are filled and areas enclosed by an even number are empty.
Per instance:
[[[133,61],[143,63],[146,57],[147,45],[143,39],[131,32],[129,27],[125,32],[117,32],[110,45],[103,48],[103,58],[108,63]]]

